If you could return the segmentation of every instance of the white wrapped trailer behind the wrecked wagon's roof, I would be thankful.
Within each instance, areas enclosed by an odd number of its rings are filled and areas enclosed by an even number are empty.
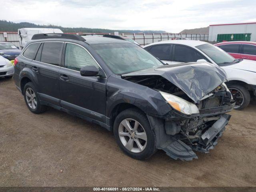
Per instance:
[[[34,34],[40,33],[63,33],[60,29],[54,28],[21,28],[18,29],[20,48],[23,48]]]

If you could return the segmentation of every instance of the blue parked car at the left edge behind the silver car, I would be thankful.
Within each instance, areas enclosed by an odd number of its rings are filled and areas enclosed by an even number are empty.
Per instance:
[[[20,49],[10,42],[0,42],[0,52],[4,58],[14,60],[19,54]]]

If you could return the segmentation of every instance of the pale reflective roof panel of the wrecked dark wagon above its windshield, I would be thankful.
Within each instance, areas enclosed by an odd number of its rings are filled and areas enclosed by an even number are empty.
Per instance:
[[[106,43],[130,43],[121,39],[110,38],[110,37],[100,37],[100,36],[82,36],[85,42],[89,45],[94,44],[106,44]]]

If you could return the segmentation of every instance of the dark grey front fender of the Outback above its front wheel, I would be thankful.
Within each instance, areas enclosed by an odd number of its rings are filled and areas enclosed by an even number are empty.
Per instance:
[[[121,78],[110,76],[106,89],[107,117],[110,117],[114,108],[122,103],[132,104],[146,114],[158,116],[164,116],[172,110],[158,91]]]

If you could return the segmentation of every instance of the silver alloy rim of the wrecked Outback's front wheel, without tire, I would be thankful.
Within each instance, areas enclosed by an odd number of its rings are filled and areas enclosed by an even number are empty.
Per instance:
[[[134,119],[124,119],[119,125],[118,135],[124,147],[130,152],[140,153],[147,145],[147,134],[143,126]]]

